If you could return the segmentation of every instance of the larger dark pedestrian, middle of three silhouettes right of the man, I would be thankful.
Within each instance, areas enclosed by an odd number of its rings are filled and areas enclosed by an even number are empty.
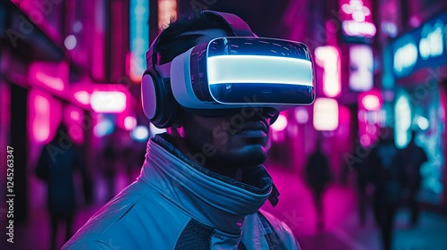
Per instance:
[[[391,249],[396,211],[401,202],[404,173],[399,161],[399,149],[394,145],[392,129],[381,129],[380,139],[367,161],[374,166],[375,221],[380,229],[383,249]]]

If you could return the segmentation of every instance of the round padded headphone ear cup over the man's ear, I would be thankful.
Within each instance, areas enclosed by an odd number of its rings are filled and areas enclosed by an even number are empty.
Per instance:
[[[173,125],[179,106],[173,97],[170,82],[164,81],[152,69],[148,69],[141,79],[141,102],[143,112],[157,128]]]

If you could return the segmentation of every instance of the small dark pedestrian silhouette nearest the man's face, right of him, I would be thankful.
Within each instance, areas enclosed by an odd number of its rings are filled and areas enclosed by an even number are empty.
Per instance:
[[[321,148],[321,142],[316,142],[316,151],[310,154],[305,168],[305,179],[312,191],[316,208],[317,229],[324,228],[323,195],[329,182],[333,179],[329,162]]]

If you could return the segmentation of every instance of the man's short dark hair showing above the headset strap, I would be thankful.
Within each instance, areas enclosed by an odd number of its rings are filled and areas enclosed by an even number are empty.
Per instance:
[[[204,13],[181,15],[178,19],[172,20],[158,37],[156,53],[159,54],[159,63],[169,63],[175,56],[197,45],[199,35],[181,36],[181,34],[204,29],[223,29],[228,36],[232,34],[228,24],[215,15]]]

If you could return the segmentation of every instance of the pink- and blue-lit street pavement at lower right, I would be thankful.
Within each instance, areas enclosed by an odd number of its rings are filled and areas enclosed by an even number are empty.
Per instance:
[[[324,196],[325,228],[316,227],[312,196],[298,173],[267,166],[281,195],[276,207],[264,209],[285,221],[304,250],[380,250],[380,236],[371,208],[361,226],[355,188],[333,184]],[[446,250],[447,215],[422,211],[419,224],[409,227],[409,211],[401,208],[395,220],[392,249]]]

